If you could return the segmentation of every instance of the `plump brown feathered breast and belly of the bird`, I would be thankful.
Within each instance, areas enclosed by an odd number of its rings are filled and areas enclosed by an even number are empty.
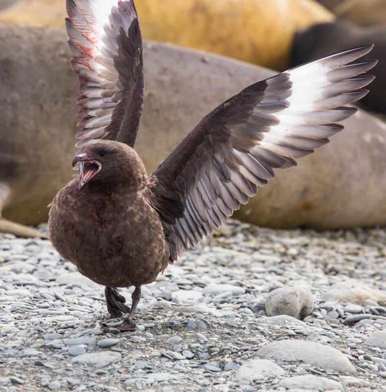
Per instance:
[[[145,194],[98,195],[69,185],[49,213],[49,235],[59,254],[105,286],[152,282],[164,269],[165,243],[159,216]]]

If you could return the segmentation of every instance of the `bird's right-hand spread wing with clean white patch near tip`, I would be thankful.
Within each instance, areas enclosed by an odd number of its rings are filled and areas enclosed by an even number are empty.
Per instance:
[[[149,178],[169,262],[256,195],[273,168],[296,166],[295,158],[343,128],[335,122],[357,109],[341,106],[367,94],[362,87],[374,77],[357,75],[377,61],[345,64],[371,49],[350,49],[252,84],[197,123]]]

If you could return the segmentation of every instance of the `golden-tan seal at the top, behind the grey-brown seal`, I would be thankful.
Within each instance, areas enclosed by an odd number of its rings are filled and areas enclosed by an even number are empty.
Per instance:
[[[287,68],[297,28],[330,22],[313,0],[138,0],[144,38]],[[65,0],[21,0],[0,22],[64,27]]]

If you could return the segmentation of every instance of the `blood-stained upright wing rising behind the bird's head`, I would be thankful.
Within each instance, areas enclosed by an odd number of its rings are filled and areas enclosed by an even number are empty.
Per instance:
[[[144,101],[142,37],[133,0],[67,0],[78,75],[82,147],[96,139],[134,146]]]

